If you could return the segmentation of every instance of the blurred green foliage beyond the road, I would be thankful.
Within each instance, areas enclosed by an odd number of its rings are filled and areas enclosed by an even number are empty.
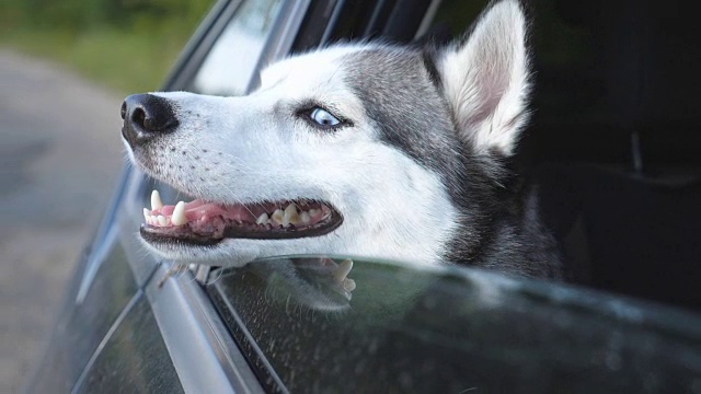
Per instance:
[[[212,0],[3,0],[0,44],[120,93],[158,89]]]

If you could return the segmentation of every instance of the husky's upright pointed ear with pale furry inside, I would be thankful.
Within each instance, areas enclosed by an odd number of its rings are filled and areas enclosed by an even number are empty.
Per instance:
[[[514,153],[528,117],[528,62],[526,16],[517,0],[493,3],[467,40],[438,55],[459,137],[475,152]]]

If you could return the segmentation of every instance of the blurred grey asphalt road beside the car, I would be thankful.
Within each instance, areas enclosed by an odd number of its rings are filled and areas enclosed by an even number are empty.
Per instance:
[[[114,188],[120,102],[0,48],[0,393],[30,378]]]

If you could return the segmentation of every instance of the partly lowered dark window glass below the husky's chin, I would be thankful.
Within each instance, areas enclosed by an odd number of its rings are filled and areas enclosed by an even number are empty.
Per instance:
[[[701,383],[690,361],[701,360],[698,316],[548,282],[310,257],[228,269],[208,290],[269,391],[681,393]]]

